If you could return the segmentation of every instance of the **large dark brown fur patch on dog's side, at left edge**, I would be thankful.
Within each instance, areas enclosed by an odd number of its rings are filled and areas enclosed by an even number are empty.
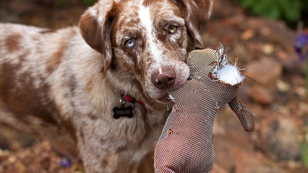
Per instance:
[[[35,116],[42,119],[43,122],[59,125],[55,118],[59,112],[54,100],[50,99],[48,95],[50,86],[42,82],[39,88],[35,88],[34,79],[30,77],[29,72],[16,74],[20,67],[21,64],[2,64],[0,97],[6,107],[24,123],[31,123],[26,117]],[[38,78],[40,77],[38,76]]]

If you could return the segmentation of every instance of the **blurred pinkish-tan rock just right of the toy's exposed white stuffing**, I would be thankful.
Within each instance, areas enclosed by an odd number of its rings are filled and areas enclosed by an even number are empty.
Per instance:
[[[282,75],[282,65],[277,60],[262,58],[246,65],[245,72],[252,75],[258,83],[270,86]]]

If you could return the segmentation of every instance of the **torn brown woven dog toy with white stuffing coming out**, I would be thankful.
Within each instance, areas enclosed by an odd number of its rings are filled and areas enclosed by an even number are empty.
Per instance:
[[[220,44],[217,51],[193,50],[187,64],[189,80],[167,96],[173,107],[156,144],[156,172],[212,172],[214,116],[226,103],[245,131],[254,130],[254,114],[237,98],[239,85],[249,77],[240,73],[237,59],[230,62]]]

